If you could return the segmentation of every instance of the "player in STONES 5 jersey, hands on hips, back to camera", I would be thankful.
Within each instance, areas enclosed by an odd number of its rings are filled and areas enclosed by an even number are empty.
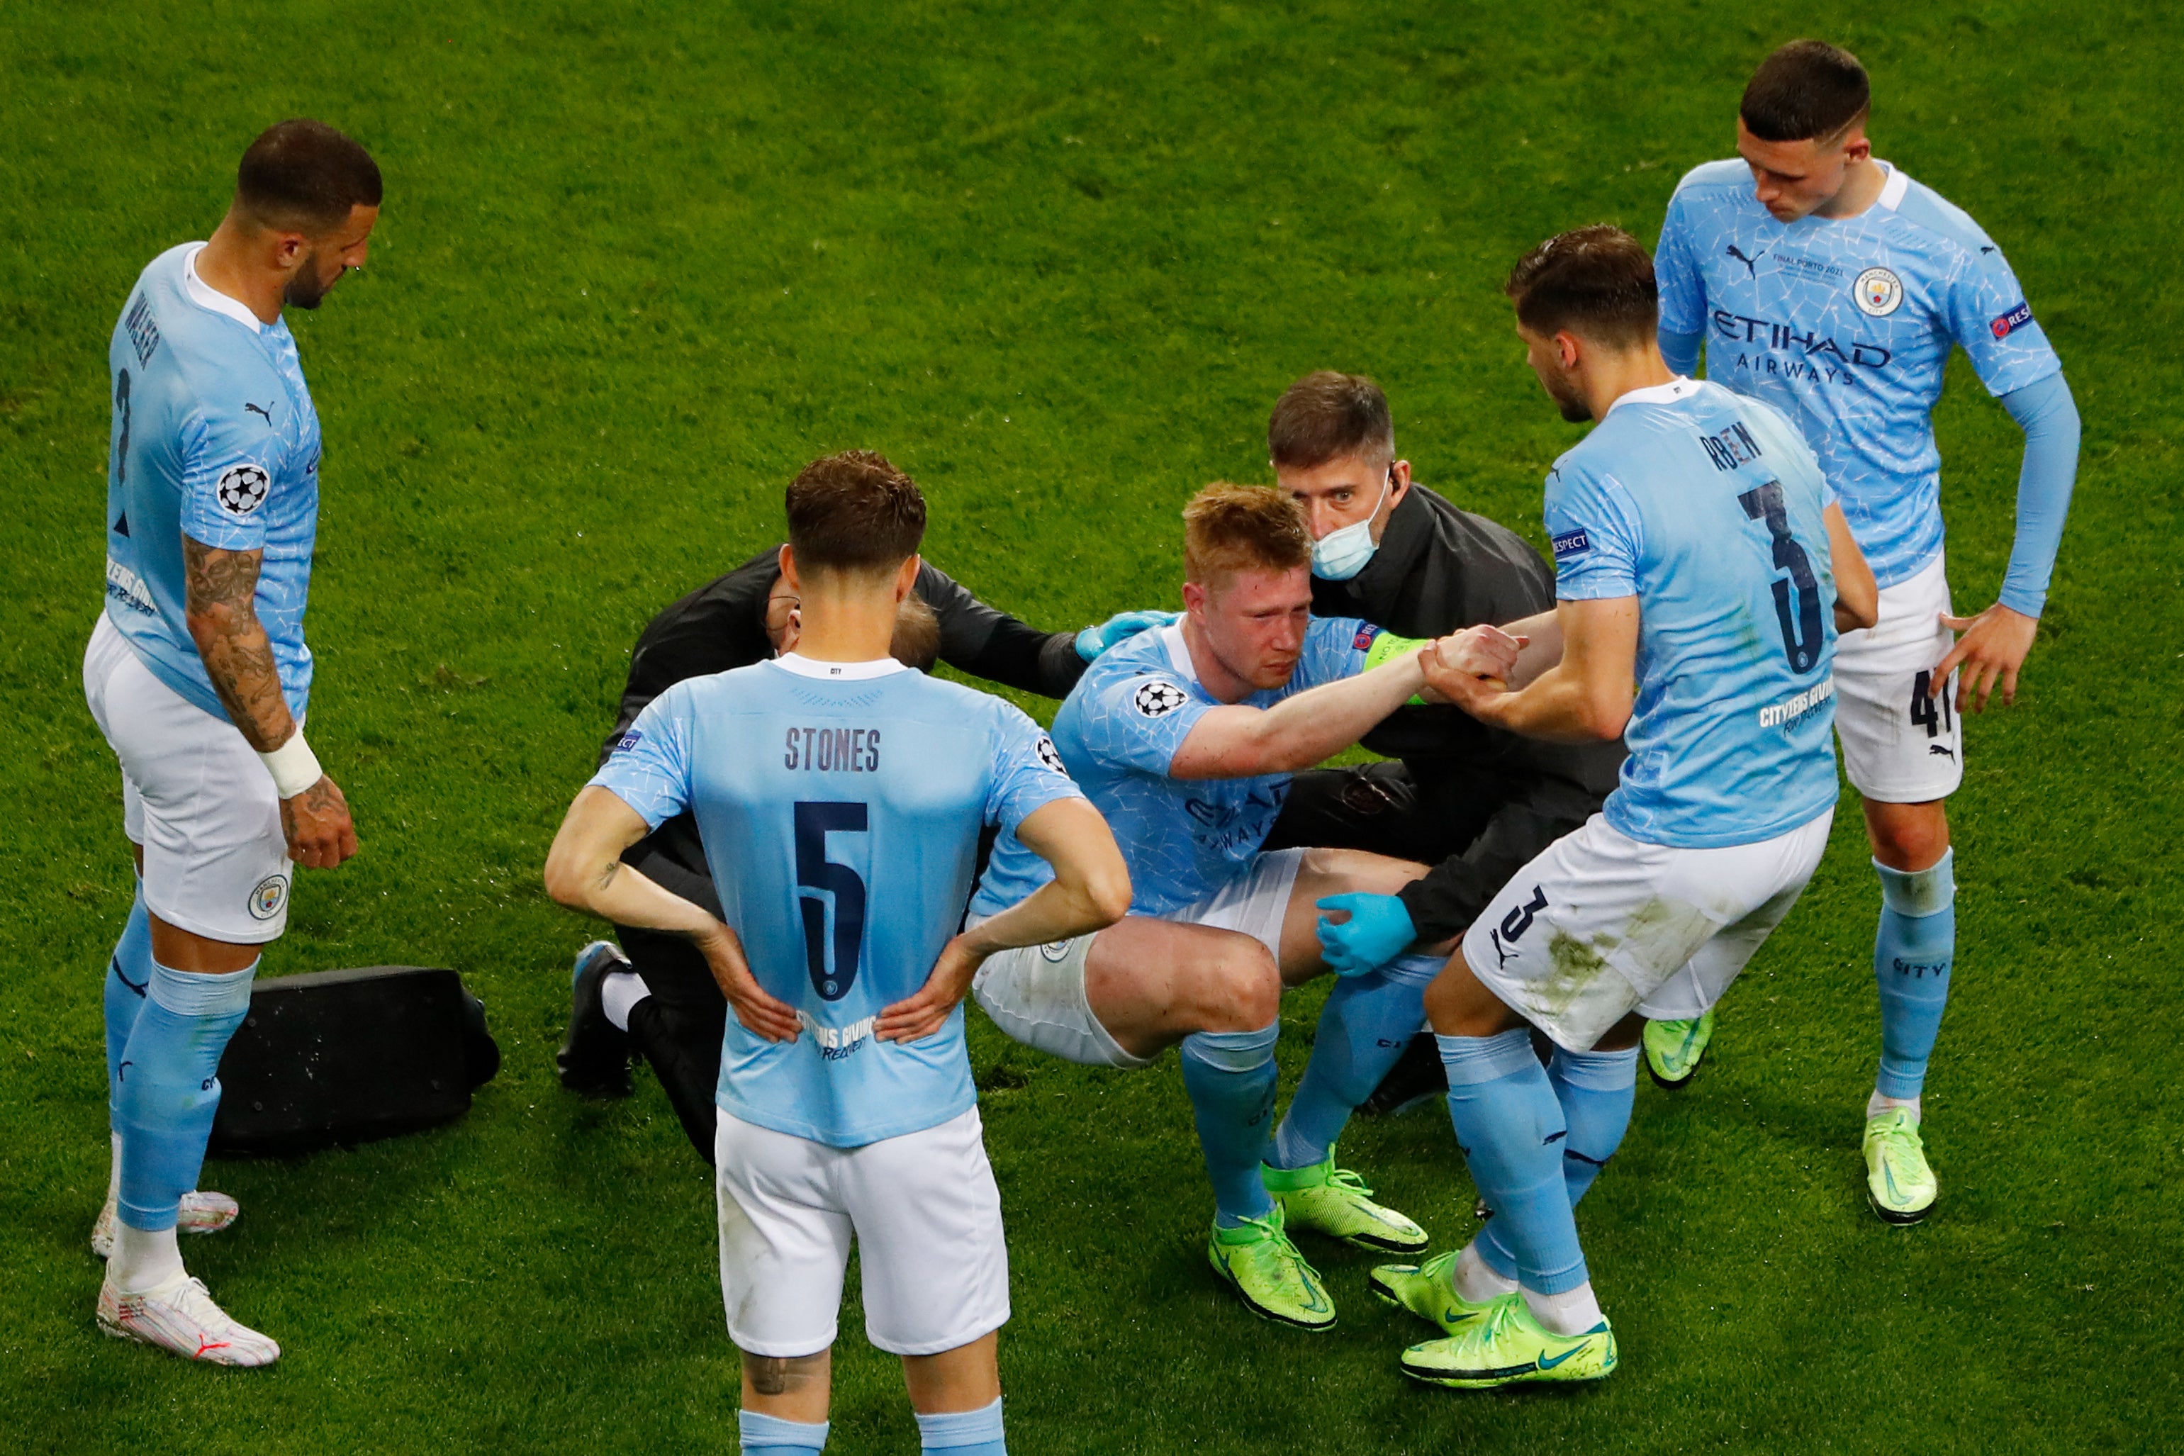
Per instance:
[[[852,1240],[865,1332],[902,1356],[924,1449],[1005,1456],[1009,1255],[963,993],[994,952],[1129,908],[1114,836],[1037,725],[889,657],[924,526],[882,456],[808,465],[782,550],[795,651],[653,699],[546,860],[561,904],[688,936],[734,1011],[714,1163],[747,1456],[826,1445]],[[686,810],[721,919],[620,858]],[[957,934],[987,825],[1051,878]]]

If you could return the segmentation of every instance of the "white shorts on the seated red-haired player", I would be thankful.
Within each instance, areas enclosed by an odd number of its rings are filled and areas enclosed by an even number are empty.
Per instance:
[[[1282,919],[1297,884],[1304,849],[1256,856],[1251,867],[1216,895],[1160,919],[1184,926],[1238,930],[1280,960]],[[1092,1015],[1085,995],[1085,958],[1094,934],[1048,945],[1024,945],[987,956],[970,982],[972,1000],[1011,1041],[1075,1061],[1085,1067],[1149,1067],[1155,1059],[1131,1057]]]

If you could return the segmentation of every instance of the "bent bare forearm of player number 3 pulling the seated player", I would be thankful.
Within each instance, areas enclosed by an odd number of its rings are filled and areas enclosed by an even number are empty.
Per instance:
[[[1559,602],[1562,659],[1527,688],[1426,655],[1426,681],[1450,703],[1494,727],[1548,742],[1621,738],[1638,677],[1638,598]]]

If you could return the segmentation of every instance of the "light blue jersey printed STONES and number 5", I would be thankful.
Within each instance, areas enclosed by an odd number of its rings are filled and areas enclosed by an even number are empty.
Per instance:
[[[653,827],[695,812],[751,974],[804,1019],[782,1043],[727,1017],[725,1111],[856,1148],[976,1102],[961,1006],[924,1041],[871,1019],[954,934],[981,827],[1079,797],[1031,718],[893,661],[788,655],[668,688],[592,784]]]

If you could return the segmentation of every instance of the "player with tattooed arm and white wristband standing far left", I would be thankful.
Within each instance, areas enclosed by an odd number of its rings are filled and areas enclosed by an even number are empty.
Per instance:
[[[107,349],[107,583],[83,692],[120,760],[138,897],[105,984],[98,1323],[214,1364],[280,1358],[175,1244],[236,1216],[197,1188],[221,1052],[286,928],[290,862],[356,854],[347,801],[304,742],[319,415],[282,308],[317,308],[360,268],[378,212],[363,146],[321,122],[271,127],[212,240],[144,268]]]

